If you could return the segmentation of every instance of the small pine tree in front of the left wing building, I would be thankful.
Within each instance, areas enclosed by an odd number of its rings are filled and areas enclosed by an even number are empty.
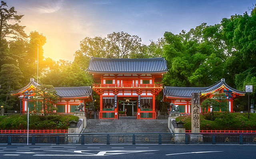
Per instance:
[[[34,93],[35,93],[34,99],[38,99],[38,101],[42,101],[42,109],[47,119],[46,115],[49,112],[56,110],[56,107],[54,107],[54,105],[52,104],[57,102],[56,90],[52,85],[38,85]],[[37,107],[38,106],[39,105],[37,105]]]

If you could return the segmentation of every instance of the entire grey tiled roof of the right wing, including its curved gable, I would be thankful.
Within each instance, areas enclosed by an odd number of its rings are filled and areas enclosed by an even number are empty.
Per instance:
[[[220,81],[211,85],[210,87],[164,87],[163,92],[165,96],[170,97],[191,97],[192,93],[206,93],[218,89],[224,84],[228,89],[235,91],[237,93],[244,93],[244,91],[239,91],[227,85],[225,79],[222,78]]]

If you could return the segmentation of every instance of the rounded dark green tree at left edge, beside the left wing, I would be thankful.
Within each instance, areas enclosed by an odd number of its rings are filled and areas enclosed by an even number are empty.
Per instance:
[[[13,107],[16,97],[10,95],[11,91],[20,88],[22,72],[14,64],[4,64],[0,71],[0,104],[7,109]]]

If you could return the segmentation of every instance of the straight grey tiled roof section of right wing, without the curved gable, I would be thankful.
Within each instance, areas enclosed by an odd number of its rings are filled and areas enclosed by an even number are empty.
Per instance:
[[[208,87],[164,87],[165,96],[171,97],[191,97],[192,93],[200,93]]]

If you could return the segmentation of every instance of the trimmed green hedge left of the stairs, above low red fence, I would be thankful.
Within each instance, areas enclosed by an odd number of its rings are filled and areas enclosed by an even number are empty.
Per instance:
[[[74,115],[29,115],[29,129],[68,129],[69,121],[78,121]],[[0,116],[0,129],[27,129],[27,115]]]

